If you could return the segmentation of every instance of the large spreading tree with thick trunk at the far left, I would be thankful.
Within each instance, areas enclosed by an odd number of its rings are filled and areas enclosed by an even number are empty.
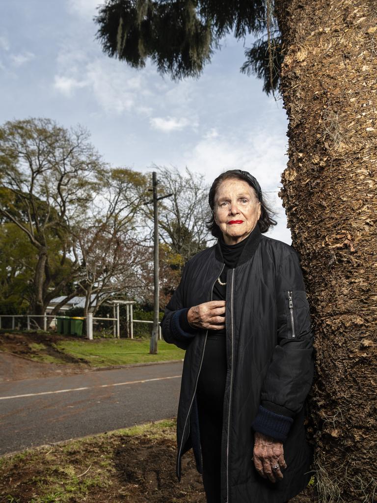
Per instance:
[[[33,314],[43,314],[81,267],[73,229],[85,221],[95,177],[104,168],[88,136],[80,127],[67,130],[50,119],[0,128],[0,215],[17,225],[35,250]],[[60,269],[54,267],[57,250]]]

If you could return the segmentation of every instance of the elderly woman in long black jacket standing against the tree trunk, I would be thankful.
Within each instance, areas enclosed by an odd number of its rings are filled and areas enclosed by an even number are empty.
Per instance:
[[[208,503],[283,503],[310,479],[303,276],[295,250],[263,235],[276,222],[252,175],[223,173],[209,203],[218,242],[187,262],[161,322],[165,341],[186,350],[177,476],[193,447]]]

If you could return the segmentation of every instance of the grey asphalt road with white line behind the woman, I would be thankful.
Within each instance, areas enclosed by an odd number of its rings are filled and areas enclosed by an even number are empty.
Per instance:
[[[174,417],[181,372],[166,363],[0,383],[0,455]]]

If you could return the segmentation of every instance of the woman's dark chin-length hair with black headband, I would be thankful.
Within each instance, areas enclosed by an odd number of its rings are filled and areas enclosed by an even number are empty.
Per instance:
[[[217,177],[214,181],[214,183],[211,186],[210,193],[208,196],[208,202],[211,207],[211,215],[208,217],[206,220],[206,226],[207,229],[211,231],[211,234],[217,238],[222,236],[222,232],[220,230],[220,227],[217,225],[215,222],[215,216],[214,216],[214,208],[215,208],[215,198],[216,198],[216,191],[219,187],[219,185],[224,182],[224,180],[229,180],[229,179],[238,179],[238,180],[243,180],[244,182],[247,182],[250,187],[253,189],[253,193],[256,197],[256,199],[260,202],[260,217],[258,220],[258,226],[260,232],[267,232],[267,230],[272,227],[273,225],[276,225],[276,220],[273,218],[275,216],[275,212],[269,208],[263,198],[263,193],[260,189],[260,185],[258,181],[256,180],[255,177],[253,177],[250,173],[247,171],[242,171],[242,170],[228,170],[225,173],[222,173],[219,177]]]

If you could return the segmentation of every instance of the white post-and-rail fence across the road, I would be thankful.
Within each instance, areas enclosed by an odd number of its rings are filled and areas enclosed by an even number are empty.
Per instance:
[[[128,316],[126,316],[126,333],[127,337],[130,339],[134,338],[134,323],[152,323],[153,321],[145,320],[145,319],[133,319],[132,317],[132,310],[131,312],[128,312]],[[117,314],[119,314],[119,310],[116,311]],[[33,319],[33,318],[43,318],[43,330],[47,331],[48,328],[56,328],[57,327],[57,318],[59,316],[52,315],[52,314],[0,314],[0,329],[3,328],[2,324],[2,319],[3,318],[12,318],[12,330],[15,330],[16,328],[20,328],[20,323],[16,323],[16,319],[18,318],[26,318],[26,326],[28,330],[31,330],[31,328],[39,328],[40,325]],[[48,318],[51,318],[51,321],[48,325]],[[92,340],[93,339],[93,321],[99,320],[99,321],[113,321],[113,333],[115,338],[120,338],[120,318],[101,318],[97,316],[93,316],[93,313],[88,313],[88,315],[85,316],[80,316],[80,318],[86,320],[86,337],[87,339]],[[17,326],[16,326],[17,325]],[[32,326],[33,325],[33,326]],[[48,326],[47,326],[48,325]],[[161,335],[161,326],[158,326],[158,339],[162,339]]]

